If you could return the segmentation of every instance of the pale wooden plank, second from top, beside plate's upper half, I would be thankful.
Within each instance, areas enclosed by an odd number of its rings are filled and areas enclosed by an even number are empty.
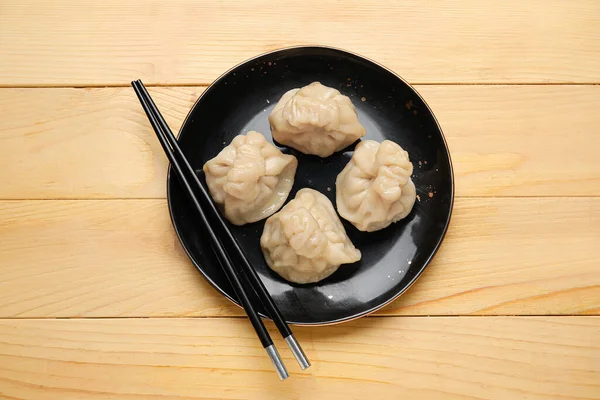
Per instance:
[[[458,196],[599,196],[600,86],[418,86]],[[152,88],[174,130],[202,92]],[[129,88],[0,89],[0,198],[164,197],[167,163]]]

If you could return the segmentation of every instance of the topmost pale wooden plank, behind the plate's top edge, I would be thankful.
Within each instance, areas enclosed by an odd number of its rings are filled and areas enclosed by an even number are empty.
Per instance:
[[[600,3],[4,0],[0,85],[207,84],[265,51],[345,48],[413,83],[600,82]]]

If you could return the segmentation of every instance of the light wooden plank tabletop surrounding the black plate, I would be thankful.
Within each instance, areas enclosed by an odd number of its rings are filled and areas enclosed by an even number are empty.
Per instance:
[[[314,365],[279,341],[279,382],[177,241],[128,84],[178,129],[221,72],[295,44],[415,84],[457,199],[418,283],[296,328]],[[596,0],[1,1],[0,397],[600,399],[599,84]]]

